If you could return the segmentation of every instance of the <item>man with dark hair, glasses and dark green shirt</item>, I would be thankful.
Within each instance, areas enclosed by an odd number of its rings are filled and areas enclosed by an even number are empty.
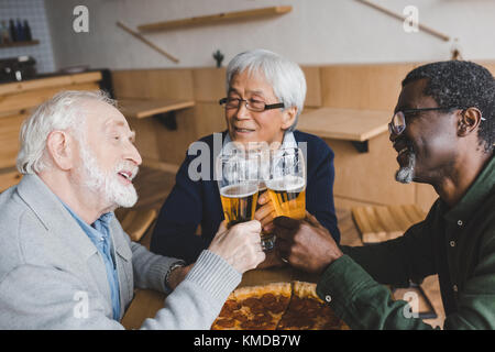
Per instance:
[[[380,284],[433,274],[444,329],[495,329],[494,101],[492,74],[469,62],[428,64],[404,79],[389,124],[396,179],[430,184],[440,198],[403,237],[339,249],[311,216],[275,219],[280,255],[321,273],[318,295],[351,329],[431,329]]]

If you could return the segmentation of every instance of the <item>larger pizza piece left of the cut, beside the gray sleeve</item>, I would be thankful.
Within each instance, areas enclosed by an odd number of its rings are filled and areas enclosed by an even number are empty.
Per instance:
[[[227,299],[211,329],[275,330],[290,294],[290,283],[238,288]]]

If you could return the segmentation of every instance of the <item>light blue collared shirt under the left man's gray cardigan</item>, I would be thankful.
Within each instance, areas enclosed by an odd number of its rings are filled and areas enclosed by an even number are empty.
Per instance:
[[[80,226],[82,231],[88,235],[89,240],[95,244],[103,260],[105,268],[107,270],[108,284],[110,286],[113,319],[120,320],[119,275],[117,273],[116,261],[113,257],[113,244],[109,229],[114,215],[112,212],[103,213],[91,226],[88,226],[67,205],[64,204],[64,206]]]

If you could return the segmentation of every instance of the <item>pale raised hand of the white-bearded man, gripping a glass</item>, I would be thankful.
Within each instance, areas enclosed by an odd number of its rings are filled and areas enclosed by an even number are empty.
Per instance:
[[[257,220],[238,223],[230,229],[227,229],[227,221],[222,221],[208,250],[243,274],[265,260],[260,232]]]

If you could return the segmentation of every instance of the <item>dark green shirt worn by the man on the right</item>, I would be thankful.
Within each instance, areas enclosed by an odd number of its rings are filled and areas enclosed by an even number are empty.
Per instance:
[[[317,293],[351,329],[431,329],[383,284],[407,287],[438,274],[444,329],[495,329],[495,157],[461,201],[438,199],[425,221],[395,240],[349,248]]]

